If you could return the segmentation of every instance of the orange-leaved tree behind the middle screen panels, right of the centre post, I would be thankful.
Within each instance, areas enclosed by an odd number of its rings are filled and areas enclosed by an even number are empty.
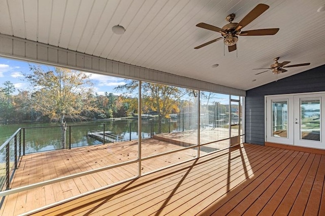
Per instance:
[[[134,92],[138,88],[138,81],[129,81],[125,85],[116,87]],[[158,116],[158,133],[161,133],[161,120],[174,112],[179,112],[178,100],[184,95],[181,88],[143,82],[142,83],[142,112],[156,111]]]

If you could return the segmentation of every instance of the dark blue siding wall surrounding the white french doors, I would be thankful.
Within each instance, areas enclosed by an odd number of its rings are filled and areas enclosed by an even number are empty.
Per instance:
[[[245,142],[264,145],[265,95],[318,91],[325,91],[325,65],[246,91]]]

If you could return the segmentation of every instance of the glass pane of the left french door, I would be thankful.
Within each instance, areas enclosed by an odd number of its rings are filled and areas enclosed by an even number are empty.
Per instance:
[[[272,136],[287,137],[288,102],[272,101]]]

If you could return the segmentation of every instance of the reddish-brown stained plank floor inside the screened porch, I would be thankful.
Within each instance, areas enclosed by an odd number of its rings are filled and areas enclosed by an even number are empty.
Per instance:
[[[325,156],[240,145],[38,215],[325,215]]]

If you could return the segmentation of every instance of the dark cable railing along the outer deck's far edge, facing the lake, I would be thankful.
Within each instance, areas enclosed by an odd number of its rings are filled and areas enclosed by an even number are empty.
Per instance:
[[[22,154],[99,145],[138,139],[136,122],[22,128]],[[142,138],[152,137],[152,122],[142,127]]]

